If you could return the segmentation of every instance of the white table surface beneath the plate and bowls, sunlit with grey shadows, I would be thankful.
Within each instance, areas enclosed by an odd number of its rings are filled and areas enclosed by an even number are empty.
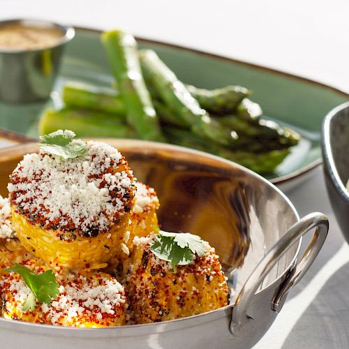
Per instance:
[[[348,13],[346,0],[1,0],[0,19],[121,27],[144,38],[276,68],[349,92]],[[286,194],[299,216],[327,214],[329,236],[255,348],[349,348],[349,247],[329,204],[322,168]]]

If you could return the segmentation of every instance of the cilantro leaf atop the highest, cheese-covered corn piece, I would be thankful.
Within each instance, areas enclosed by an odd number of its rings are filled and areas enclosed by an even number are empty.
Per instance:
[[[40,136],[40,149],[45,153],[61,156],[64,160],[77,158],[86,151],[83,140],[74,139],[75,133],[70,130],[58,130],[49,135]]]

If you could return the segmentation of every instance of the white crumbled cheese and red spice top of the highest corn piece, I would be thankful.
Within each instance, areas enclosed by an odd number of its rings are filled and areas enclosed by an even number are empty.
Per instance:
[[[121,166],[124,170],[115,172]],[[79,158],[27,154],[10,176],[11,205],[45,228],[96,235],[130,211],[135,192],[132,171],[108,144],[87,142]]]

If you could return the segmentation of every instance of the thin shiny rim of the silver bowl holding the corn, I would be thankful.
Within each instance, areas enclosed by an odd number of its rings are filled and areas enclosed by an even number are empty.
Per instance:
[[[239,165],[238,163],[235,163],[233,161],[227,160],[225,158],[221,158],[220,156],[216,156],[216,155],[212,155],[212,154],[208,154],[205,151],[200,151],[200,150],[196,150],[196,149],[190,149],[187,147],[181,147],[179,145],[174,145],[174,144],[167,144],[167,143],[162,143],[162,142],[152,142],[149,140],[137,140],[137,139],[126,139],[126,138],[85,138],[86,140],[98,140],[101,142],[110,142],[111,140],[114,142],[118,142],[118,145],[113,145],[113,147],[141,147],[142,149],[144,149],[145,147],[150,147],[152,149],[163,149],[163,150],[168,150],[168,151],[182,151],[185,152],[187,154],[193,154],[193,156],[197,155],[197,156],[205,156],[207,158],[211,158],[212,160],[215,161],[219,161],[222,163],[225,163],[227,165],[230,165],[230,167],[232,168],[239,168],[239,170],[242,170],[242,172],[246,172],[248,175],[255,177],[256,179],[262,181],[265,183],[265,185],[271,187],[274,191],[276,191],[283,200],[285,200],[285,202],[289,205],[290,209],[292,209],[293,214],[295,214],[295,218],[297,221],[299,221],[299,214],[297,213],[297,210],[295,209],[294,205],[292,204],[292,202],[290,201],[290,199],[279,189],[277,188],[274,184],[272,184],[272,182],[268,181],[267,179],[265,179],[264,177],[260,176],[260,174],[253,172],[252,170],[249,170],[248,168],[245,168],[242,165]],[[32,143],[32,145],[34,145],[35,143]],[[25,145],[29,145],[30,143],[27,144],[18,144],[15,147],[23,147]],[[15,148],[13,147],[13,148]],[[3,153],[4,151],[9,151],[11,148],[6,148],[3,149],[2,151],[0,151],[0,155],[1,153]],[[265,287],[261,288],[260,290],[258,290],[258,292],[255,293],[255,295],[260,294],[261,292],[264,292],[265,290],[269,289],[272,287],[272,285],[274,285],[275,283],[277,283],[278,281],[280,281],[283,276],[285,276],[285,274],[287,274],[288,270],[295,265],[295,262],[297,260],[297,257],[299,255],[299,251],[301,249],[301,244],[302,244],[302,238],[299,239],[298,242],[298,246],[297,246],[297,251],[295,252],[295,255],[292,257],[292,260],[290,261],[290,263],[288,264],[287,267],[285,267],[285,269],[283,270],[283,272],[276,278],[274,279],[274,281],[272,281],[271,283],[269,283],[268,285],[266,285]],[[8,325],[10,324],[17,324],[19,327],[22,327],[22,329],[30,329],[30,328],[35,328],[35,329],[43,329],[43,331],[45,331],[45,329],[47,330],[52,330],[55,333],[57,333],[57,335],[59,334],[59,331],[65,331],[65,330],[69,330],[70,332],[72,332],[72,334],[77,334],[77,333],[91,333],[91,332],[97,332],[99,331],[101,333],[101,335],[105,334],[106,331],[115,331],[115,334],[117,334],[117,332],[126,332],[126,334],[119,334],[119,336],[129,336],[130,334],[135,334],[133,332],[133,329],[137,330],[137,329],[145,329],[149,331],[149,334],[151,333],[157,333],[155,328],[159,327],[159,326],[170,326],[171,324],[177,324],[177,325],[181,325],[181,327],[185,327],[186,324],[188,322],[191,322],[193,319],[195,320],[204,320],[204,318],[209,317],[209,315],[216,315],[215,318],[222,318],[225,317],[225,313],[227,311],[231,311],[232,308],[234,307],[234,303],[232,304],[228,304],[227,306],[223,306],[221,308],[212,310],[212,311],[207,311],[206,313],[200,313],[198,315],[191,315],[191,316],[187,316],[185,318],[179,318],[179,319],[175,319],[175,320],[167,320],[167,321],[163,321],[163,322],[152,322],[152,323],[148,323],[148,324],[140,324],[140,325],[122,325],[122,326],[110,326],[110,327],[99,327],[99,328],[91,328],[91,327],[69,327],[69,326],[54,326],[54,325],[46,325],[46,324],[39,324],[39,323],[33,323],[33,322],[24,322],[24,321],[20,321],[20,320],[8,320],[5,318],[0,318],[0,327],[1,327],[1,323],[7,323]]]

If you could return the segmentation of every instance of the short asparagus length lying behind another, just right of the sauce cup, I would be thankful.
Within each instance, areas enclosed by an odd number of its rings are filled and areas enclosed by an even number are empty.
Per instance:
[[[126,119],[124,101],[112,89],[101,89],[82,82],[68,82],[62,89],[62,98],[68,107],[102,110]]]

